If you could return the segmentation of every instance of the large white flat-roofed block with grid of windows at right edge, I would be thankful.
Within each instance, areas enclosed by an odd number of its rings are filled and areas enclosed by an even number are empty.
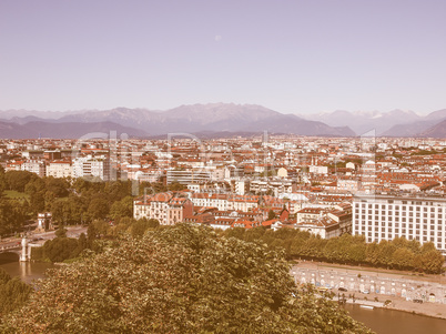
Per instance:
[[[446,199],[375,195],[354,198],[352,233],[367,242],[404,236],[433,242],[446,255]]]

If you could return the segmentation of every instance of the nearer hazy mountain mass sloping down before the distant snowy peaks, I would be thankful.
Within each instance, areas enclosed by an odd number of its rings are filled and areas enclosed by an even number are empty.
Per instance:
[[[67,113],[6,111],[0,112],[0,138],[79,138],[80,133],[109,131],[139,138],[203,132],[207,136],[210,132],[235,135],[263,131],[302,135],[355,135],[347,126],[330,126],[261,105],[233,103],[181,105],[161,112],[128,108]]]

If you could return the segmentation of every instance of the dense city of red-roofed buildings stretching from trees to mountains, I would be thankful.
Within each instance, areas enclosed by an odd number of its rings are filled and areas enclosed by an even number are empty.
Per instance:
[[[7,172],[133,182],[133,195],[143,194],[134,201],[135,219],[221,229],[292,226],[323,239],[348,232],[367,242],[404,236],[446,253],[443,140],[265,133],[219,140],[3,140],[0,150]],[[152,183],[176,183],[181,192],[158,201]],[[368,201],[376,206],[366,206]],[[268,210],[277,219],[267,220]]]

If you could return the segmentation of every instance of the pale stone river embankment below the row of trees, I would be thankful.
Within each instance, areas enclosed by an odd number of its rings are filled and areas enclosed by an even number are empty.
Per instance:
[[[442,318],[446,320],[446,304],[444,302],[445,297],[445,292],[446,292],[446,277],[443,275],[415,275],[414,273],[410,272],[399,272],[399,271],[389,271],[389,270],[383,270],[383,269],[371,269],[371,267],[356,267],[356,266],[349,266],[349,265],[338,265],[338,264],[332,264],[332,263],[321,263],[321,262],[301,262],[293,266],[292,272],[297,273],[298,271],[308,271],[306,274],[307,280],[312,279],[313,275],[312,273],[321,273],[321,276],[324,277],[323,275],[325,274],[325,282],[328,281],[328,274],[334,275],[334,276],[344,276],[344,279],[339,279],[339,281],[336,281],[334,279],[336,286],[332,290],[334,293],[336,293],[336,298],[337,298],[337,293],[341,293],[345,295],[346,302],[349,304],[357,304],[357,305],[367,305],[367,306],[373,306],[373,307],[381,307],[381,308],[388,308],[388,310],[395,310],[395,311],[403,311],[403,312],[408,312],[412,314],[418,314],[418,315],[424,315],[424,316],[430,316],[430,317],[436,317],[436,318]],[[308,275],[310,274],[310,275]],[[308,277],[310,276],[310,277]],[[297,275],[295,275],[297,277]],[[302,280],[303,276],[301,276]],[[356,283],[355,289],[351,289],[349,284],[353,282],[353,279],[355,277],[355,281],[361,281],[359,277],[372,277],[375,280],[375,289],[368,291],[368,293],[361,293],[358,285]],[[323,280],[323,279],[317,279],[317,280]],[[338,291],[338,283],[345,282],[345,287],[347,287],[347,291],[345,292],[339,292]],[[382,281],[385,281],[387,286],[392,286],[389,284],[393,284],[391,282],[397,282],[396,286],[398,283],[405,283],[405,282],[417,282],[416,284],[423,285],[423,284],[429,284],[429,285],[435,285],[435,286],[440,286],[443,295],[439,295],[437,293],[437,302],[428,302],[426,301],[427,298],[424,300],[423,303],[414,303],[414,297],[412,296],[410,300],[407,300],[409,292],[407,292],[406,296],[402,296],[401,293],[398,295],[398,290],[396,290],[396,293],[391,293],[391,290],[386,290],[386,293],[376,293],[376,289],[378,286],[378,282],[382,283]],[[296,280],[297,282],[297,280]],[[310,281],[307,281],[310,282]],[[373,282],[373,281],[371,281]],[[384,283],[384,282],[383,282]],[[324,284],[322,284],[324,285]],[[407,290],[409,287],[409,284],[407,284]],[[437,290],[438,291],[438,290]],[[354,296],[354,298],[353,298]],[[389,301],[387,305],[384,305],[386,301]]]

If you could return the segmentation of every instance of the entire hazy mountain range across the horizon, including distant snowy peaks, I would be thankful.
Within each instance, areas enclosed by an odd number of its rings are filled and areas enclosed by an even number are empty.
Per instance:
[[[270,133],[354,136],[371,132],[383,136],[445,138],[446,109],[418,115],[413,111],[284,114],[255,104],[209,103],[180,105],[166,111],[115,108],[67,112],[0,111],[0,138],[80,138],[88,133],[126,133],[133,138],[162,138],[190,133],[216,138]]]

